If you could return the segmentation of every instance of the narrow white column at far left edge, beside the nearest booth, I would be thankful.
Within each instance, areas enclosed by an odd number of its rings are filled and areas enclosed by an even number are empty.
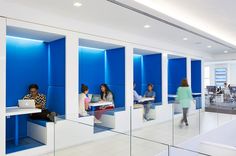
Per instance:
[[[0,18],[0,155],[6,148],[6,19]]]

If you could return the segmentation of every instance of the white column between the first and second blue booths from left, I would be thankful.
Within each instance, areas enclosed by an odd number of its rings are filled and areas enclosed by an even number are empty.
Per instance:
[[[78,46],[79,38],[76,33],[66,35],[66,117],[78,118]]]

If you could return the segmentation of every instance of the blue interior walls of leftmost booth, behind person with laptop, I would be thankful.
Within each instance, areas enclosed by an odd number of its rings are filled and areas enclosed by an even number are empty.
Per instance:
[[[16,106],[28,93],[28,85],[37,83],[47,97],[47,108],[65,114],[65,39],[40,42],[7,36],[6,106]],[[27,135],[28,116],[19,118],[19,135]],[[14,138],[14,118],[7,119],[7,140]]]

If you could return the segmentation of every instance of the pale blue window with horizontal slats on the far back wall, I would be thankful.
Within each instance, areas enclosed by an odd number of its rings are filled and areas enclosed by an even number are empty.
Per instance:
[[[215,84],[216,86],[222,87],[227,82],[227,69],[216,68],[215,69]]]

